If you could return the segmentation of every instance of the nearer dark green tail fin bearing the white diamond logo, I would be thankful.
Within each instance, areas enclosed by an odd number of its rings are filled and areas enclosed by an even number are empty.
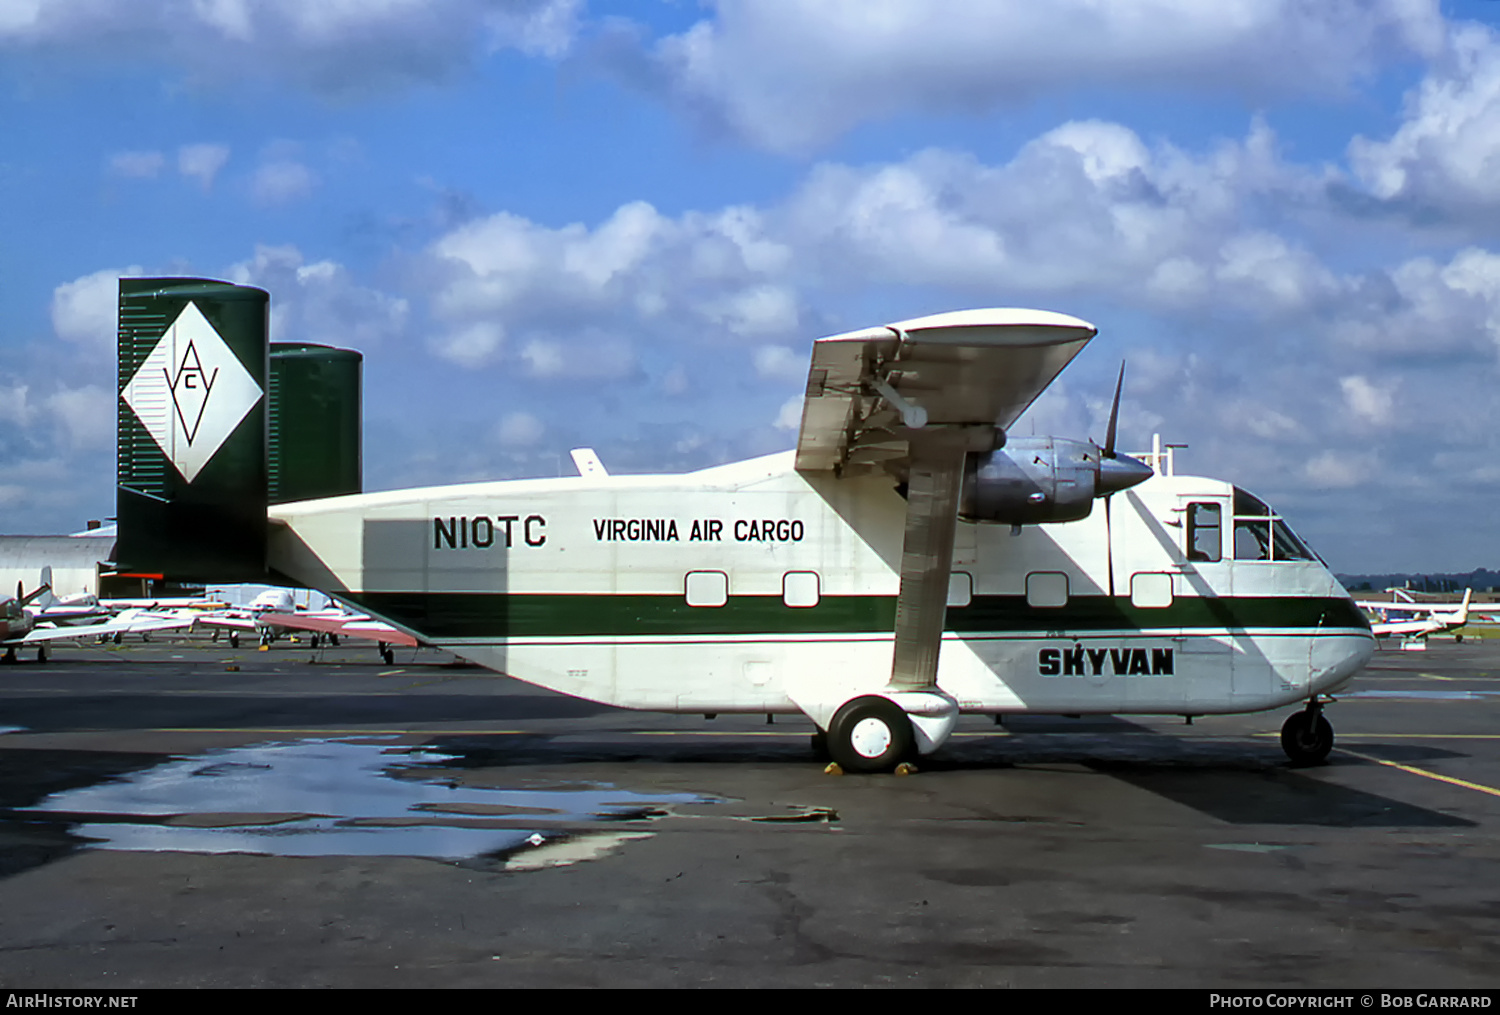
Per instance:
[[[120,570],[264,577],[268,303],[212,279],[120,279]]]

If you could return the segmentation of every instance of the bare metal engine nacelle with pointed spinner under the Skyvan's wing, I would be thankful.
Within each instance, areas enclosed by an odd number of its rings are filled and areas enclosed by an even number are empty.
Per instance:
[[[1152,475],[1144,462],[1104,457],[1090,441],[1011,438],[1004,448],[964,463],[958,517],[969,522],[1042,525],[1089,517],[1094,499]]]

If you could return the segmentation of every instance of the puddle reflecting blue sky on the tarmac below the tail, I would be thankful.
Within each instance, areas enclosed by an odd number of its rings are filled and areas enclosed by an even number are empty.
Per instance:
[[[718,802],[597,783],[490,789],[426,774],[448,760],[456,756],[372,742],[266,744],[168,762],[54,793],[26,810],[75,817],[74,834],[94,840],[96,849],[488,858],[502,870],[537,870],[594,859],[651,835],[576,825]]]

